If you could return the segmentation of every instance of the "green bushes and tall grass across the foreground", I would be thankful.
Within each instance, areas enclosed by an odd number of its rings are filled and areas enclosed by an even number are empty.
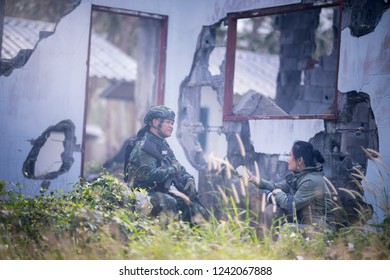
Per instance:
[[[21,186],[18,186],[22,188]],[[141,215],[110,174],[63,194],[27,197],[0,183],[0,259],[389,259],[390,224],[305,237],[284,227],[259,236],[248,209],[226,196],[224,218],[190,227]]]

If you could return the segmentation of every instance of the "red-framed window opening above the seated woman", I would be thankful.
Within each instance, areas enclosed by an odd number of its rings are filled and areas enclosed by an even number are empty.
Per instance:
[[[333,1],[229,14],[224,120],[336,118],[339,9]],[[253,94],[258,109],[240,115]]]

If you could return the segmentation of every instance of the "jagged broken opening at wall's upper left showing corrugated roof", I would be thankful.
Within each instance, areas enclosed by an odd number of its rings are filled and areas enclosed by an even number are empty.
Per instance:
[[[23,67],[41,39],[81,0],[0,0],[0,76]]]

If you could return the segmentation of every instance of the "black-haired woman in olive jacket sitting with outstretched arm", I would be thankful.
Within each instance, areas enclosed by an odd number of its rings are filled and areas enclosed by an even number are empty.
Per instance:
[[[291,173],[283,181],[274,183],[248,171],[249,182],[269,191],[264,213],[266,229],[271,229],[274,221],[282,216],[287,217],[288,223],[298,224],[300,229],[308,225],[332,229],[333,203],[322,176],[323,163],[323,156],[312,144],[297,141],[289,155]]]

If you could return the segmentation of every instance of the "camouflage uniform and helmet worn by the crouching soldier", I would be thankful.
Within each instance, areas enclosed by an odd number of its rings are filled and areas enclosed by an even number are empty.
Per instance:
[[[193,212],[198,211],[199,208],[202,208],[200,209],[201,211],[205,211],[205,209],[194,202],[186,203],[181,197],[170,193],[169,189],[171,188],[173,178],[179,181],[181,186],[186,186],[187,182],[194,182],[194,177],[183,166],[178,165],[178,170],[177,167],[164,164],[164,162],[161,162],[161,160],[142,149],[142,145],[146,140],[164,158],[168,158],[170,162],[177,162],[167,141],[149,132],[149,121],[156,117],[174,120],[175,114],[164,106],[155,106],[145,116],[144,122],[146,127],[138,133],[142,137],[140,137],[140,141],[136,143],[129,156],[129,164],[127,167],[129,185],[133,188],[147,190],[150,196],[150,202],[153,205],[152,216],[157,216],[161,212],[172,216],[180,210],[182,212],[182,219],[192,222]],[[193,186],[195,187],[195,185]],[[175,187],[190,199],[196,196],[194,190],[187,191],[180,189],[178,186]]]

